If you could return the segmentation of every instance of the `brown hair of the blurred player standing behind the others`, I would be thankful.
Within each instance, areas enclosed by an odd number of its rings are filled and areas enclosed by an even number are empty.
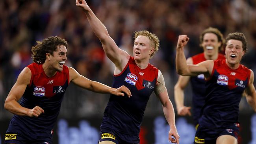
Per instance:
[[[199,38],[200,39],[200,47],[202,47],[202,42],[204,40],[204,35],[206,33],[214,33],[217,36],[218,42],[221,42],[221,46],[219,46],[219,51],[223,51],[223,45],[225,44],[225,39],[223,37],[223,34],[217,28],[212,28],[212,27],[205,29],[201,33],[200,38]]]

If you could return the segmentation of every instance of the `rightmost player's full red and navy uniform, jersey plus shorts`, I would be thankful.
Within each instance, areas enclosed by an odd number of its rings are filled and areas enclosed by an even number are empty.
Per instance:
[[[206,82],[205,105],[195,136],[195,144],[215,144],[221,135],[239,136],[239,102],[249,84],[250,70],[239,65],[232,70],[225,60],[214,61]]]

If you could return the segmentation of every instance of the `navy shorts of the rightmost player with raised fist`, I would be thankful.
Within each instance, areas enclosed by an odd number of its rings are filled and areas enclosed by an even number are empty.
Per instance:
[[[221,135],[231,135],[239,137],[239,123],[226,125],[219,129],[208,129],[204,126],[198,126],[195,135],[194,144],[216,144],[216,140]]]

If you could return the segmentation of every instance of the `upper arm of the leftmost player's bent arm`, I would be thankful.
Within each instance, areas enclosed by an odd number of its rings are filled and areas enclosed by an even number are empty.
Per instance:
[[[26,67],[24,70],[22,70],[22,72],[20,72],[16,83],[13,85],[6,98],[6,102],[10,100],[18,101],[24,94],[26,87],[30,84],[30,79],[31,71],[28,67]]]

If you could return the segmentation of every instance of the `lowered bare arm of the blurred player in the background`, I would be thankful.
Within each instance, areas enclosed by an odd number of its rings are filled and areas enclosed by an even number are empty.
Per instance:
[[[187,64],[193,64],[191,57],[187,59]],[[174,100],[176,103],[177,113],[180,116],[191,116],[190,109],[191,107],[184,106],[184,89],[189,83],[190,76],[179,76],[176,85],[174,86]]]

